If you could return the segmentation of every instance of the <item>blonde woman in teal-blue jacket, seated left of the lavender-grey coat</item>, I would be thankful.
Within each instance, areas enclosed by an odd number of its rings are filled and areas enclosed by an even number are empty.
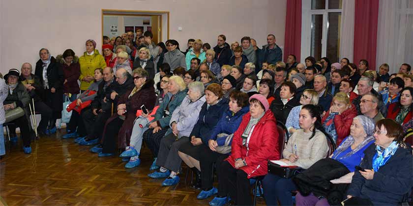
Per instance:
[[[182,100],[185,98],[187,92],[188,90],[186,89],[185,82],[181,77],[172,76],[169,78],[168,93],[159,105],[159,108],[156,110],[154,119],[148,123],[148,130],[143,132],[143,139],[155,157],[149,168],[150,170],[156,170],[159,168],[156,165],[159,144],[161,139],[169,131],[169,122],[173,112],[182,103]],[[136,128],[136,126],[134,128]],[[169,131],[169,133],[171,133],[171,131]]]

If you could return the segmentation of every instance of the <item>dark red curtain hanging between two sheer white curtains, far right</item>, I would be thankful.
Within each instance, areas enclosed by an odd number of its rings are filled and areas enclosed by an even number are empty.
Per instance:
[[[376,70],[378,16],[379,0],[355,1],[354,63],[366,59],[370,70]]]

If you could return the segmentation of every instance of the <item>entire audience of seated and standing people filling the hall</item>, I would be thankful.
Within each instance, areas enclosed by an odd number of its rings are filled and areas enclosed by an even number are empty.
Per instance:
[[[262,49],[250,37],[230,46],[219,35],[212,49],[190,39],[185,52],[176,40],[152,38],[150,31],[104,36],[102,51],[89,39],[80,57],[67,49],[55,58],[42,48],[34,74],[30,63],[10,69],[0,79],[0,123],[8,124],[11,142],[20,128],[30,154],[33,130],[55,133],[65,109],[72,113],[63,139],[91,146],[98,157],[121,150],[125,168],[141,164],[145,142],[153,155],[144,162],[153,170],[149,178],[175,185],[183,161],[196,176],[197,198],[214,196],[211,206],[252,205],[252,189],[267,205],[407,201],[413,187],[409,64],[389,75],[387,64],[376,72],[364,59],[357,66],[347,58],[332,63],[309,56],[303,64],[290,54],[282,62],[272,34]],[[63,108],[66,101],[71,104]],[[18,108],[22,115],[5,118]],[[41,114],[38,126],[31,125],[32,110]],[[268,172],[269,160],[300,173]]]

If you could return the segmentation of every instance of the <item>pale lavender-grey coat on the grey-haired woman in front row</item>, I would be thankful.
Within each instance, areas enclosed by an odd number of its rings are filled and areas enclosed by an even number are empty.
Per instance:
[[[179,131],[178,137],[188,137],[194,129],[195,123],[198,122],[199,112],[202,109],[202,105],[205,103],[205,95],[199,98],[196,102],[191,102],[189,96],[186,96],[182,103],[172,113],[169,126],[172,128],[172,123],[177,123],[177,129]],[[172,132],[172,129],[168,129],[165,136]]]

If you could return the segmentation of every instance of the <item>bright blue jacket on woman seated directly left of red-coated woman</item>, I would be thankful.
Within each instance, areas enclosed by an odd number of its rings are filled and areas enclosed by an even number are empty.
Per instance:
[[[216,124],[214,129],[209,136],[209,139],[216,140],[216,136],[220,133],[233,134],[236,129],[238,129],[241,124],[242,117],[244,114],[249,112],[249,106],[244,106],[232,116],[232,111],[229,109],[222,115],[219,122]],[[225,144],[225,138],[219,138],[221,141],[217,141],[218,146],[223,146]],[[232,140],[231,140],[232,141]]]

